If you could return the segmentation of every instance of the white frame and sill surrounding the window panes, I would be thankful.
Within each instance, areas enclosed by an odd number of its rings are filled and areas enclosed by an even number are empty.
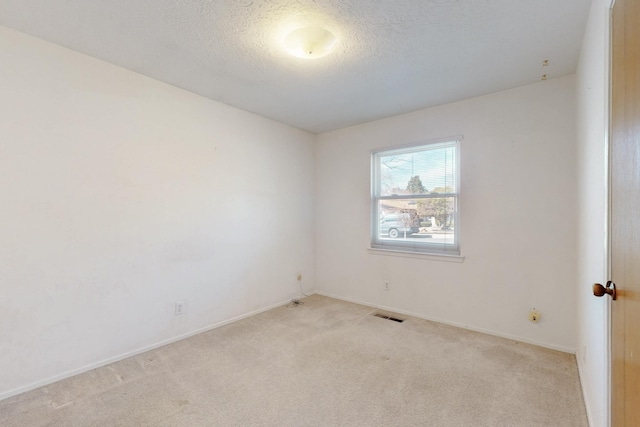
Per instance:
[[[416,141],[410,144],[398,145],[392,147],[384,147],[380,149],[375,149],[371,151],[371,205],[370,205],[370,215],[371,215],[371,227],[370,227],[370,247],[368,248],[368,253],[372,255],[385,255],[385,256],[400,256],[400,257],[408,257],[408,258],[418,258],[418,259],[429,259],[429,260],[439,260],[439,261],[449,261],[449,262],[463,262],[464,256],[462,256],[461,250],[461,227],[460,227],[460,212],[461,212],[461,183],[460,183],[460,155],[461,153],[461,144],[463,136],[456,135],[447,138],[438,138],[438,139],[430,139],[423,141]],[[412,148],[416,148],[416,151],[419,150],[418,147],[423,147],[426,145],[437,145],[437,144],[445,144],[452,143],[456,146],[456,217],[455,224],[456,227],[454,229],[455,232],[455,242],[456,242],[456,250],[447,252],[447,251],[438,251],[435,245],[424,244],[423,248],[417,248],[415,243],[413,242],[395,242],[395,243],[387,243],[384,244],[377,243],[376,240],[378,238],[378,227],[379,227],[379,213],[377,209],[377,203],[379,201],[379,197],[377,195],[377,191],[380,188],[379,177],[380,173],[378,171],[377,165],[377,155],[380,153],[392,153],[394,151],[411,151]],[[438,197],[442,197],[443,195],[439,195]],[[402,198],[402,197],[400,197]],[[406,198],[413,198],[406,196]]]

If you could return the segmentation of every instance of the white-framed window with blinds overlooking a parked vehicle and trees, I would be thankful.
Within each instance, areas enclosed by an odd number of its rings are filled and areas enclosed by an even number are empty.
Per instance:
[[[372,248],[460,254],[460,139],[373,153]]]

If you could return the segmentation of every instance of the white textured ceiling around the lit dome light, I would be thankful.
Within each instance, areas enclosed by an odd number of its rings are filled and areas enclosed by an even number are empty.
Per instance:
[[[0,24],[319,133],[573,73],[590,3],[0,0]],[[282,49],[309,24],[329,56]]]

